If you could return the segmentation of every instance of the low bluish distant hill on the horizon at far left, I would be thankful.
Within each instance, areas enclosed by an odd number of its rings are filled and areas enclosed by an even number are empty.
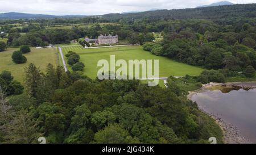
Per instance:
[[[7,12],[0,14],[0,19],[39,19],[39,18],[79,18],[82,15],[44,15],[44,14],[25,14],[20,12]]]

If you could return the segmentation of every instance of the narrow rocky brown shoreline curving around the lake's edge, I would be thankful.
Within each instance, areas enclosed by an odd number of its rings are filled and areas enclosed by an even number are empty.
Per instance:
[[[256,89],[256,81],[254,82],[228,82],[228,83],[208,83],[206,85],[203,85],[201,89],[195,90],[195,91],[189,91],[189,94],[187,95],[187,98],[189,100],[192,100],[193,95],[203,93],[204,91],[210,90],[213,87],[240,87],[240,89]],[[198,106],[198,104],[197,104]],[[219,125],[219,127],[222,129],[224,133],[224,143],[225,144],[251,144],[249,140],[246,140],[244,137],[240,135],[240,131],[237,127],[235,127],[232,124],[229,124],[228,122],[225,122],[220,117],[209,114],[202,108],[199,108],[202,112],[209,115],[211,118],[213,118],[216,123]]]

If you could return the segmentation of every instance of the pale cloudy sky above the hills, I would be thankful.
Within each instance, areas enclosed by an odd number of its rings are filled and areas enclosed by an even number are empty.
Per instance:
[[[51,15],[102,15],[151,9],[185,9],[223,0],[0,0],[0,12]],[[230,0],[235,4],[256,0]]]

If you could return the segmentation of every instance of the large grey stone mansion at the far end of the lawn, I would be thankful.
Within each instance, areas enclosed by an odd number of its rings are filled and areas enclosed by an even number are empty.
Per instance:
[[[89,39],[89,37],[85,37],[85,41],[88,43],[95,43],[95,44],[116,44],[118,43],[118,35],[101,35],[98,36],[98,39]]]

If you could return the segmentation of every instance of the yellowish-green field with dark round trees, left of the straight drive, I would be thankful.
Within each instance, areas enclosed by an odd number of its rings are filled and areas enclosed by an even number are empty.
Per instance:
[[[14,64],[11,59],[11,55],[15,48],[9,48],[7,51],[0,52],[0,72],[3,70],[10,71],[14,79],[19,82],[24,82],[24,67],[28,66],[30,63],[36,64],[36,66],[40,67],[40,70],[44,72],[46,70],[46,66],[51,63],[54,66],[59,65],[59,60],[57,57],[57,51],[55,48],[43,48],[43,49],[35,49],[31,48],[31,52],[24,54],[27,57],[26,64]]]

